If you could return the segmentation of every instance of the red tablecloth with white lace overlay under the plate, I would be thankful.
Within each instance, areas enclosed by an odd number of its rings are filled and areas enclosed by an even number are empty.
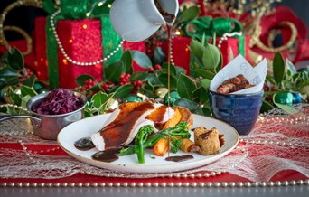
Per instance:
[[[81,163],[54,141],[33,135],[28,120],[0,123],[0,183],[154,186],[230,186],[307,183],[309,106],[288,115],[276,108],[261,114],[229,155],[198,169],[166,174],[129,174]],[[297,182],[298,181],[298,182]]]

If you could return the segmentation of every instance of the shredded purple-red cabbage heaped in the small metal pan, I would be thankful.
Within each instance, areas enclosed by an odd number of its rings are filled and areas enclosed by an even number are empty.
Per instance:
[[[70,113],[81,108],[83,105],[80,98],[68,89],[54,89],[42,103],[33,111],[42,115],[60,115]]]

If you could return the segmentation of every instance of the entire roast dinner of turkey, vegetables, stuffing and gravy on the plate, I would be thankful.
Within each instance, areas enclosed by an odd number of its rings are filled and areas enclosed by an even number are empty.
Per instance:
[[[166,161],[183,162],[200,155],[220,153],[224,136],[217,128],[193,126],[192,113],[184,107],[168,107],[150,101],[126,102],[110,114],[103,127],[89,137],[74,142],[79,150],[92,148],[98,152],[92,158],[113,162],[119,156],[136,154],[139,164],[145,163],[145,149],[154,156],[166,156]],[[194,136],[194,140],[190,137]],[[182,151],[184,155],[170,156]]]

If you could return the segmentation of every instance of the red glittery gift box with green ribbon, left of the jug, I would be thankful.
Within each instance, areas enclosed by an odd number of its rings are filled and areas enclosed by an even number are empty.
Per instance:
[[[57,35],[64,52],[72,61],[86,63],[109,57],[104,63],[78,65],[70,62],[61,52],[59,42],[54,38],[52,27],[45,17],[35,19],[35,57],[33,65],[40,80],[49,80],[50,88],[73,89],[77,87],[75,79],[81,74],[89,74],[96,80],[103,80],[103,67],[120,59],[126,49],[145,52],[145,42],[123,42],[114,55],[111,55],[121,42],[121,38],[112,29],[109,18],[59,20],[56,25]],[[136,62],[133,70],[144,70]]]

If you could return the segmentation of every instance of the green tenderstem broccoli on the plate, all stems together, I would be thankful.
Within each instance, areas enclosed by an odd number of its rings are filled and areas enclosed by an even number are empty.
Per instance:
[[[176,153],[180,145],[182,145],[181,139],[179,139],[178,137],[189,138],[191,136],[188,131],[188,123],[180,122],[175,127],[166,128],[164,130],[156,132],[154,136],[146,140],[146,137],[149,136],[149,134],[151,133],[149,127],[153,129],[152,126],[145,126],[140,128],[136,135],[136,145],[121,149],[120,153],[117,155],[124,156],[136,153],[138,162],[140,164],[144,164],[145,148],[154,146],[159,139],[169,136],[171,151],[173,153]],[[148,134],[148,132],[150,133]]]

